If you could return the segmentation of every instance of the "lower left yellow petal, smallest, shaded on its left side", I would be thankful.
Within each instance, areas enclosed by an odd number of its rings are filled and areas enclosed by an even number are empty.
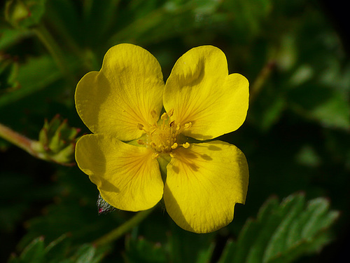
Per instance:
[[[80,170],[107,203],[121,210],[146,210],[162,198],[162,177],[152,153],[102,134],[84,135],[76,143]]]

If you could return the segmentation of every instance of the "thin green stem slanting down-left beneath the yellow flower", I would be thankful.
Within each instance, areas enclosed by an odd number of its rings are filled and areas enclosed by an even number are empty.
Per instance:
[[[144,220],[151,212],[153,211],[153,208],[141,211],[134,215],[134,217],[130,218],[127,222],[124,224],[121,224],[116,229],[113,229],[108,234],[98,238],[96,241],[93,242],[94,245],[106,245],[107,243],[111,243],[112,241],[116,241],[118,238],[123,236],[123,234],[127,233],[127,231],[130,231],[133,227],[137,226],[142,220]]]

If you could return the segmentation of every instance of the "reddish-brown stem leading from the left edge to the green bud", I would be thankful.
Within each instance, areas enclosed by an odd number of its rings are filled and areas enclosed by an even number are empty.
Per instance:
[[[8,142],[11,142],[12,144],[15,144],[16,146],[20,147],[21,149],[24,149],[29,154],[38,157],[38,154],[34,149],[32,149],[33,140],[28,139],[27,137],[21,135],[20,133],[16,133],[14,130],[11,130],[10,128],[3,126],[0,123],[0,137],[7,140]]]

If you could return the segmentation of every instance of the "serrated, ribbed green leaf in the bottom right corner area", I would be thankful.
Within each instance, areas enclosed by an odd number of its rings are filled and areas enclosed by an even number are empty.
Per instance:
[[[330,242],[329,228],[338,215],[325,198],[306,203],[303,194],[293,194],[281,204],[269,198],[237,241],[229,241],[219,262],[292,262]]]

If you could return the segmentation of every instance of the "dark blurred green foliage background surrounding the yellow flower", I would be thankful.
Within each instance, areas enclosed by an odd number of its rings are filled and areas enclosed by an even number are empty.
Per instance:
[[[342,1],[12,0],[0,8],[0,123],[11,129],[0,129],[0,262],[350,260]],[[187,50],[214,45],[230,73],[249,80],[244,125],[220,137],[250,169],[246,204],[228,227],[183,231],[160,203],[125,236],[93,245],[134,213],[98,215],[98,191],[74,165],[74,142],[90,132],[73,94],[118,43],[149,50],[165,80]],[[13,131],[30,140],[11,141]]]

